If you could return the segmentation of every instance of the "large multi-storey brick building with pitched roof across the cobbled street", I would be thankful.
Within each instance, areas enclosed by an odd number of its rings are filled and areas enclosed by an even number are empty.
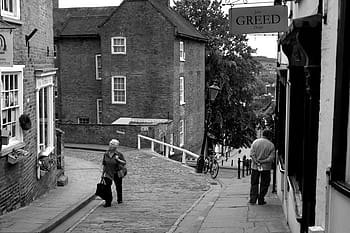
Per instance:
[[[104,127],[142,125],[155,138],[199,151],[206,38],[168,0],[58,8],[54,30],[57,112],[66,140],[107,143],[119,136],[101,136]],[[92,126],[93,134],[83,130]],[[135,146],[136,134],[122,144]]]

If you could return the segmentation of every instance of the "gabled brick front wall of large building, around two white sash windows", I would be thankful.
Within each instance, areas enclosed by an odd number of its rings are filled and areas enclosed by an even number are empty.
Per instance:
[[[126,37],[126,55],[111,54],[111,37]],[[172,118],[174,28],[148,1],[124,2],[101,28],[103,119]],[[111,104],[111,76],[125,75],[127,104]]]

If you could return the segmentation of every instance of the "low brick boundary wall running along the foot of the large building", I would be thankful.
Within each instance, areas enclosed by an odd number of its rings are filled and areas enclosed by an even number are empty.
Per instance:
[[[60,124],[64,131],[65,143],[108,145],[117,138],[121,146],[137,148],[137,135],[142,134],[154,138],[154,126],[148,127],[148,132],[141,132],[143,126],[118,126],[105,124]],[[150,147],[150,143],[142,140],[142,147]]]

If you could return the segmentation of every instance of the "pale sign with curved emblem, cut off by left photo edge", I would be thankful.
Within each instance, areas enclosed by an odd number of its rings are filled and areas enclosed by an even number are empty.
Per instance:
[[[11,29],[0,29],[0,67],[13,65],[13,33]]]

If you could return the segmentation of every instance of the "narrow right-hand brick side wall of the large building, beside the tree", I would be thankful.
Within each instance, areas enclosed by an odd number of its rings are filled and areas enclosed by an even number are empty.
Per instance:
[[[186,61],[180,61],[180,40],[184,42]],[[205,45],[178,38],[175,41],[175,88],[174,132],[175,142],[179,143],[179,122],[185,120],[185,148],[198,153],[201,148],[204,132],[204,86],[205,86]],[[180,69],[180,66],[182,68]],[[185,81],[185,102],[180,105],[179,77]]]

